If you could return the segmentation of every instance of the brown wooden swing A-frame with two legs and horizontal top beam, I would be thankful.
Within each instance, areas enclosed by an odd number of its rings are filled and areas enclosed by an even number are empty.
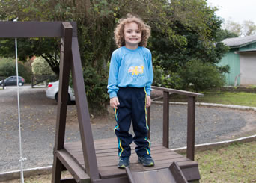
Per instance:
[[[52,182],[60,182],[61,171],[65,169],[60,161],[63,157],[60,157],[61,155],[58,154],[58,151],[64,149],[70,69],[72,70],[73,86],[75,89],[82,151],[85,152],[84,159],[86,167],[88,167],[87,173],[93,179],[100,179],[97,170],[90,116],[88,110],[86,110],[88,109],[88,104],[85,96],[76,22],[0,22],[0,27],[0,37],[2,38],[61,37],[58,111]],[[84,94],[79,95],[78,93]],[[86,173],[83,176],[86,177]],[[89,177],[87,176],[87,178]]]

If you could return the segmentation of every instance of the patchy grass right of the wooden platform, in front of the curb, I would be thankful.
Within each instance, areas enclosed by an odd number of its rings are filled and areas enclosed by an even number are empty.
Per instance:
[[[256,141],[196,152],[201,182],[256,182]]]

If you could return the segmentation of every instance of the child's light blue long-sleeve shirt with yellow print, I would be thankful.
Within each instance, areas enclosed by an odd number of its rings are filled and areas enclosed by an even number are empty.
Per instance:
[[[108,93],[117,96],[118,87],[144,87],[150,96],[153,82],[152,55],[149,49],[122,46],[112,53],[109,67]]]

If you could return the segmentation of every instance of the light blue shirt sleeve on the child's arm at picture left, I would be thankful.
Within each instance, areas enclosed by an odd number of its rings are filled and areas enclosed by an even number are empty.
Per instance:
[[[118,52],[113,52],[109,66],[108,93],[110,99],[118,93]]]

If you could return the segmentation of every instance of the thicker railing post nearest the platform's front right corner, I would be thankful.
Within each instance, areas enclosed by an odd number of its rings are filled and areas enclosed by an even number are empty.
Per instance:
[[[195,96],[188,97],[188,127],[186,140],[186,158],[195,158]]]

